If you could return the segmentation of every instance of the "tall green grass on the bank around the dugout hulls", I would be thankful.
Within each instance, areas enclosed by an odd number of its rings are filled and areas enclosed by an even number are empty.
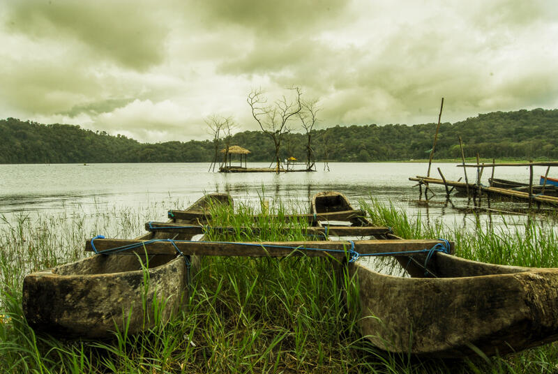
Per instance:
[[[180,207],[182,204],[177,205]],[[238,205],[238,204],[237,204]],[[273,204],[272,204],[273,205]],[[236,214],[216,209],[216,225],[243,227],[261,210],[240,204]],[[529,222],[516,230],[423,225],[405,212],[363,204],[377,225],[402,237],[444,237],[460,257],[499,264],[558,267],[552,225]],[[205,257],[194,279],[188,313],[146,334],[114,341],[65,341],[36,335],[21,311],[21,285],[29,271],[83,257],[84,239],[95,234],[134,237],[160,207],[116,212],[95,222],[84,217],[22,216],[0,232],[0,371],[7,373],[541,373],[558,366],[558,349],[545,345],[506,357],[467,361],[418,361],[375,350],[345,308],[335,264],[319,258]],[[306,209],[298,211],[306,213]],[[211,240],[308,240],[306,223],[262,215],[264,232],[234,230]],[[285,233],[280,227],[290,225]],[[347,286],[347,284],[345,284]],[[349,290],[351,288],[349,287]],[[349,297],[355,297],[353,293]],[[350,301],[350,299],[349,299]]]

